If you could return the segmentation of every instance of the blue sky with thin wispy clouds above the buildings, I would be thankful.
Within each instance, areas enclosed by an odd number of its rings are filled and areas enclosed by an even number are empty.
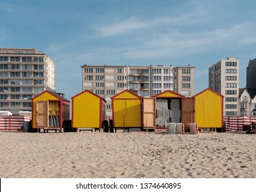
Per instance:
[[[36,48],[56,64],[56,91],[82,91],[81,65],[195,67],[195,94],[208,69],[235,57],[240,84],[256,58],[256,1],[0,0],[0,47]]]

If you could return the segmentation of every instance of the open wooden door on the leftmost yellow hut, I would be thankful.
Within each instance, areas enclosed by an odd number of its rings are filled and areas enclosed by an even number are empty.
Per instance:
[[[38,128],[48,127],[48,101],[36,101],[36,123]]]

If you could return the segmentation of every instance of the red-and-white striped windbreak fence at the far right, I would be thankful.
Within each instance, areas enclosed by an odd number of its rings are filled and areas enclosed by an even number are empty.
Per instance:
[[[223,117],[228,132],[242,132],[243,125],[251,125],[252,121],[256,122],[256,117]]]

